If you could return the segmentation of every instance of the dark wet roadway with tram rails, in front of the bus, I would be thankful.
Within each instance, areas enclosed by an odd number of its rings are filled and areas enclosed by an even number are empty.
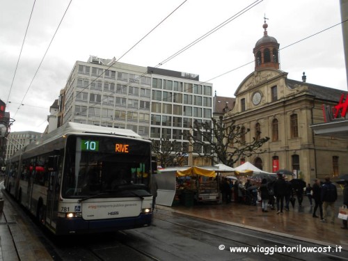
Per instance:
[[[335,253],[339,249],[164,209],[155,213],[150,228],[60,239],[45,237],[54,260],[348,260],[347,251]],[[305,247],[331,253],[301,253]]]

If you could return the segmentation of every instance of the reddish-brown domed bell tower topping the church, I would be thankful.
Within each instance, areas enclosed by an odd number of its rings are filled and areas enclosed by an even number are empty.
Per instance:
[[[279,44],[276,38],[267,34],[268,24],[264,17],[264,35],[256,42],[253,53],[255,56],[255,71],[263,68],[275,68],[279,70]]]

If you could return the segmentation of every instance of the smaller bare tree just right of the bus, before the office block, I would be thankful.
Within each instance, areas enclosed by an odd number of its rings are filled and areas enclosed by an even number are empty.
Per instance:
[[[173,165],[173,159],[175,159],[177,155],[181,155],[182,145],[181,143],[177,143],[176,140],[171,141],[168,138],[161,138],[151,141],[152,153],[157,156],[157,160],[164,168]]]

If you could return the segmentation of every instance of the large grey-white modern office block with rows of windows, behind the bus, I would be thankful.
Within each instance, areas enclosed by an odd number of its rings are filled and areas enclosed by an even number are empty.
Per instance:
[[[193,120],[211,122],[212,84],[199,75],[90,56],[77,61],[58,100],[58,125],[80,122],[171,139],[188,152]],[[182,135],[184,134],[184,135]]]

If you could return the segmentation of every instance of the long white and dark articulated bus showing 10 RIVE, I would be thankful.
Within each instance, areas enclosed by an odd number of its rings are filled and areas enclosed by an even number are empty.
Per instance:
[[[55,235],[150,226],[151,142],[68,122],[8,160],[8,193]]]

